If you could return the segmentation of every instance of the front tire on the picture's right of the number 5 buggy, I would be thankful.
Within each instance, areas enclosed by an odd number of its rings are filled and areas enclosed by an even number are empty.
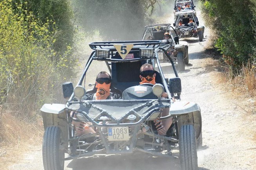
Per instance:
[[[179,131],[180,164],[182,170],[198,170],[196,133],[193,125],[182,125]]]

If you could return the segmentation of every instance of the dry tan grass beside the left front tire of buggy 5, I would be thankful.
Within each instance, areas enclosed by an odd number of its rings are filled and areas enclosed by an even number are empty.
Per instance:
[[[44,128],[39,118],[28,123],[15,118],[12,112],[4,112],[0,116],[0,164],[7,166],[15,162],[15,157],[20,156],[27,145],[42,144]]]

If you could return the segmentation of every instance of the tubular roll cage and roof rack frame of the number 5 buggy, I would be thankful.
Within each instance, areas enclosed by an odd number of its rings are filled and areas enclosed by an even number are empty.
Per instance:
[[[158,65],[159,73],[160,73],[160,76],[162,77],[163,86],[167,92],[168,98],[171,99],[171,93],[169,92],[169,88],[168,88],[166,81],[164,81],[163,71],[160,66],[160,62],[158,60],[158,53],[157,53],[158,49],[161,49],[165,53],[165,55],[169,58],[169,60],[171,61],[172,69],[173,69],[176,77],[178,77],[178,73],[176,71],[174,62],[173,62],[172,58],[168,55],[167,51],[165,51],[165,49],[163,49],[162,47],[158,47],[160,45],[160,43],[161,43],[161,41],[119,41],[119,42],[93,42],[93,43],[90,43],[89,46],[94,51],[91,53],[89,59],[87,60],[87,63],[84,68],[84,72],[76,86],[82,85],[82,82],[85,81],[84,79],[85,79],[86,72],[89,69],[89,66],[91,65],[93,60],[105,61],[109,71],[111,72],[111,68],[109,67],[108,62],[132,62],[132,61],[142,61],[142,60],[154,59],[154,60],[156,60],[156,63]],[[154,50],[154,56],[148,56],[148,57],[140,57],[139,56],[139,58],[133,58],[133,59],[113,59],[112,57],[117,53],[117,50],[114,48],[114,45],[116,45],[116,44],[119,44],[119,45],[133,44],[133,48],[131,49],[130,52],[138,52],[140,49],[145,49],[145,48],[154,48],[156,50]],[[97,49],[109,49],[111,51],[111,53],[110,53],[111,57],[110,58],[96,57]],[[71,97],[69,98],[69,100],[67,101],[67,103],[71,104],[71,101],[73,100],[73,98],[74,98],[74,92],[71,95]]]

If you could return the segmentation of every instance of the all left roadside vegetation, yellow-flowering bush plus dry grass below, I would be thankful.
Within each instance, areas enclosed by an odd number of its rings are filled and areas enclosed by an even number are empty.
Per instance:
[[[38,134],[33,132],[37,131],[40,107],[58,100],[61,84],[72,79],[72,66],[76,65],[70,41],[74,32],[65,42],[63,23],[52,14],[42,17],[43,12],[33,12],[32,2],[0,2],[1,146],[16,145]]]

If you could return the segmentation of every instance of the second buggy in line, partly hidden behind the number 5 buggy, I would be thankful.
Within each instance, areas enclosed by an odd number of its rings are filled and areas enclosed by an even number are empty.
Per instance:
[[[164,38],[164,34],[169,33],[169,39]],[[179,71],[185,70],[185,64],[189,63],[189,52],[187,42],[179,41],[179,37],[171,24],[147,25],[142,36],[143,40],[161,40],[159,47],[163,47],[172,58],[174,63],[178,64]],[[160,63],[171,61],[162,50],[158,51]]]

